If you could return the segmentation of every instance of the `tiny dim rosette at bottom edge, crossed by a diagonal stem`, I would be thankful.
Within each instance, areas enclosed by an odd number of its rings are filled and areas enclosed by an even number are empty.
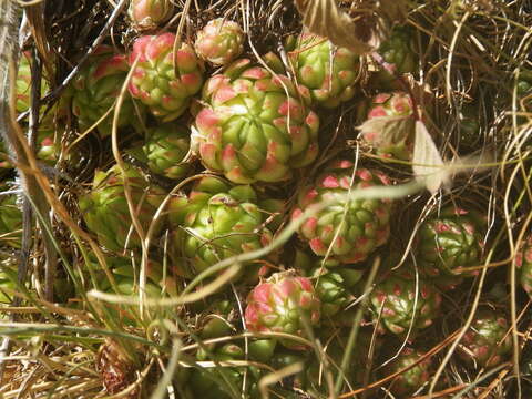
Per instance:
[[[385,367],[385,376],[392,375],[406,367],[417,362],[422,354],[413,348],[407,347],[402,349],[401,354],[387,367]],[[407,371],[401,372],[393,378],[388,387],[388,390],[400,398],[410,397],[421,386],[430,379],[430,357],[418,362]]]

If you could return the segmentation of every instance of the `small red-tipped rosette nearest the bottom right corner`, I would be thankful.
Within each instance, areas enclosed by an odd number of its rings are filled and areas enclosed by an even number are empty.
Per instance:
[[[491,308],[479,310],[460,342],[460,357],[480,367],[501,364],[512,350],[509,330],[504,314]]]

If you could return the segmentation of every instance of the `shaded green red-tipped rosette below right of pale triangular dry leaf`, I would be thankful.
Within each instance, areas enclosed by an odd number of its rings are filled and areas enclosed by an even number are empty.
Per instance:
[[[474,213],[448,206],[419,228],[418,265],[428,276],[458,276],[457,267],[479,265],[482,259],[482,222]],[[461,273],[460,277],[473,276]],[[438,278],[434,278],[438,284]]]

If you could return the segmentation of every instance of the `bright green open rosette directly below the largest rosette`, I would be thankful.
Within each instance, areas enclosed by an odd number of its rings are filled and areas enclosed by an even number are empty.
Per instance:
[[[270,214],[259,204],[249,185],[202,177],[187,198],[176,197],[170,205],[175,259],[184,258],[202,272],[227,257],[264,247],[272,241],[265,226]],[[245,269],[247,274],[254,267],[248,264]]]

